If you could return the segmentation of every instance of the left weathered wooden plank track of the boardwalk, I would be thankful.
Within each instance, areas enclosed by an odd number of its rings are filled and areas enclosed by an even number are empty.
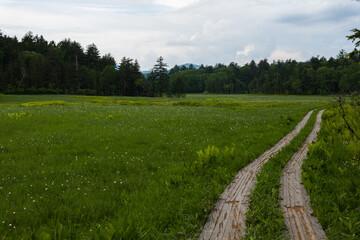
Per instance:
[[[298,125],[272,148],[243,168],[221,194],[199,237],[208,239],[240,239],[245,233],[248,195],[255,186],[256,174],[272,156],[291,142],[309,120],[310,111]]]

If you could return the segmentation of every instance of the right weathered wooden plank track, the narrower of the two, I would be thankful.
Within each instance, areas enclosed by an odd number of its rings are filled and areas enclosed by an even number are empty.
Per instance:
[[[281,176],[280,208],[285,212],[286,234],[290,239],[327,239],[317,218],[311,215],[310,198],[301,184],[301,166],[308,152],[308,143],[317,139],[322,113],[318,113],[312,132],[288,162]]]

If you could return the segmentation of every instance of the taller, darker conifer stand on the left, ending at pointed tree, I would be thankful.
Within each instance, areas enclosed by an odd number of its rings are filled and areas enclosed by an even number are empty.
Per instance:
[[[32,32],[18,40],[0,31],[1,93],[181,95],[169,82],[166,67],[160,57],[145,78],[137,60],[123,57],[117,64],[110,53],[100,56],[95,44],[86,49],[70,39],[56,44]]]

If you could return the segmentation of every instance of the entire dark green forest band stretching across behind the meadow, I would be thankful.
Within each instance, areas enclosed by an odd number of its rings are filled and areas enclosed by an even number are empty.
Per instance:
[[[159,57],[144,77],[137,60],[100,56],[95,44],[84,49],[64,39],[48,42],[28,32],[20,41],[0,31],[0,92],[7,94],[87,94],[183,96],[185,93],[335,94],[360,89],[360,54],[312,57],[239,66],[216,64],[170,71]]]

